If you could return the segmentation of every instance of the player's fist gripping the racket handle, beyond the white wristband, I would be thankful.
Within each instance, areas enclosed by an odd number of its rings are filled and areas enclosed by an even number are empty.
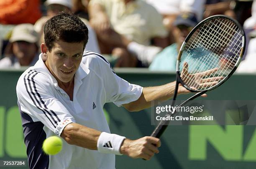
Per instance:
[[[160,139],[146,136],[138,140],[125,139],[120,152],[134,159],[141,158],[149,160],[155,153],[159,153],[157,147],[161,146]]]

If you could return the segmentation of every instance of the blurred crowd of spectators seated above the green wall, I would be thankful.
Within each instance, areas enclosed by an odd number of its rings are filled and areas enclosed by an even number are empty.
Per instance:
[[[0,68],[33,66],[44,23],[60,12],[89,29],[85,50],[115,67],[175,71],[177,54],[202,19],[228,15],[243,26],[247,47],[239,72],[256,72],[256,0],[0,0]]]

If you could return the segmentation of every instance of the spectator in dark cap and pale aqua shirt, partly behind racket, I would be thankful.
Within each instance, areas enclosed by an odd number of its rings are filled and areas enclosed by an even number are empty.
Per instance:
[[[179,48],[183,41],[197,25],[197,18],[192,13],[182,13],[174,21],[174,40],[175,43],[164,48],[156,55],[156,58],[149,66],[150,71],[176,71],[176,61]]]

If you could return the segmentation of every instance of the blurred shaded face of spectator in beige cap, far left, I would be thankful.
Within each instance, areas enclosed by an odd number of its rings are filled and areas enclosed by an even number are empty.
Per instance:
[[[31,59],[36,55],[36,45],[25,41],[13,42],[13,54],[18,59]]]

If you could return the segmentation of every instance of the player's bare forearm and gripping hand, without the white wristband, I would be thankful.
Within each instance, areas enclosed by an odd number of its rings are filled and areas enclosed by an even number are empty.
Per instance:
[[[86,149],[98,150],[97,143],[101,134],[100,131],[95,129],[77,123],[70,123],[62,131],[61,137],[67,141],[68,144],[84,147]],[[115,141],[113,142],[115,143]],[[115,145],[112,146],[114,147]],[[120,154],[125,154],[132,158],[149,160],[155,153],[159,153],[159,150],[157,149],[159,146],[161,146],[159,139],[146,136],[137,140],[124,139],[118,149]]]

